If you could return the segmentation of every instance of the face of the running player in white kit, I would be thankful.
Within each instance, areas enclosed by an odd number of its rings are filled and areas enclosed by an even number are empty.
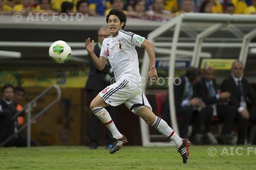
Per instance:
[[[124,22],[121,22],[116,15],[110,15],[108,20],[108,27],[112,36],[116,36],[117,32],[122,29]]]

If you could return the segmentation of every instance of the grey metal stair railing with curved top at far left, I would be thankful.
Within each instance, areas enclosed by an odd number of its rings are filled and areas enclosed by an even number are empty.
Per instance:
[[[57,98],[50,103],[47,107],[45,107],[44,109],[42,109],[40,112],[38,112],[33,118],[31,118],[31,107],[32,105],[39,100],[42,96],[44,96],[48,91],[50,91],[51,89],[56,88],[57,90]],[[22,127],[20,127],[18,129],[17,132],[14,132],[11,136],[9,136],[7,139],[5,139],[2,143],[0,143],[0,147],[3,147],[7,142],[9,142],[12,138],[14,138],[20,131],[23,131],[26,127],[28,127],[27,129],[27,147],[30,147],[30,141],[31,141],[31,123],[35,122],[35,120],[41,116],[42,114],[44,114],[47,110],[49,110],[53,105],[55,105],[61,98],[61,90],[59,88],[59,86],[57,85],[53,85],[48,87],[45,91],[41,92],[39,95],[36,96],[36,98],[34,98],[32,101],[30,101],[24,108],[23,110],[17,112],[13,117],[12,117],[12,121],[14,121],[17,116],[19,116],[20,114],[22,114],[26,109],[28,109],[28,117],[27,117],[27,123],[24,124]]]

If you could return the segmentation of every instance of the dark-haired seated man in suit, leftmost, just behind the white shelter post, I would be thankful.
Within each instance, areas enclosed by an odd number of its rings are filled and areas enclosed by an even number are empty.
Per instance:
[[[193,113],[196,113],[191,137],[194,144],[200,144],[197,135],[202,133],[203,116],[198,110],[203,107],[203,103],[196,97],[194,86],[200,79],[200,70],[195,67],[189,67],[185,75],[180,79],[181,83],[176,82],[179,85],[174,86],[176,114],[180,117],[178,123],[180,136],[182,138],[187,137],[189,123],[191,122]],[[168,98],[163,104],[162,118],[167,123],[170,123]]]

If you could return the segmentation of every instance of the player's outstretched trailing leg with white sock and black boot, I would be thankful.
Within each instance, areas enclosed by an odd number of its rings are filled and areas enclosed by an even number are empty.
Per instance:
[[[156,116],[151,108],[144,106],[140,107],[139,110],[135,111],[137,115],[145,120],[145,122],[156,128],[161,134],[168,137],[169,139],[173,140],[178,148],[178,152],[181,154],[183,163],[187,163],[189,153],[188,153],[188,146],[189,141],[188,139],[182,139],[179,135],[177,135],[172,128],[168,126],[168,124],[161,119],[160,117]]]

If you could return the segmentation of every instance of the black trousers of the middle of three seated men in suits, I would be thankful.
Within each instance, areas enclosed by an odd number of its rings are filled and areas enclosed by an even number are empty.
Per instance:
[[[204,115],[204,132],[210,132],[210,124],[211,117],[214,113],[214,109],[211,105],[207,105],[204,109],[202,109]],[[233,125],[234,118],[236,117],[236,108],[228,105],[218,105],[217,106],[217,114],[223,122],[223,128],[221,134],[230,135]]]

